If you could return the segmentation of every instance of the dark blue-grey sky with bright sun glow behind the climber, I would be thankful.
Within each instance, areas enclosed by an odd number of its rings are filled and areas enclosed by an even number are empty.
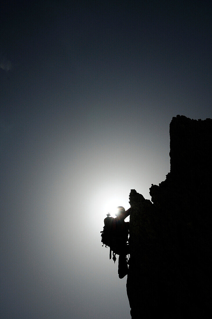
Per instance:
[[[100,231],[212,117],[209,4],[1,2],[1,318],[130,319]]]

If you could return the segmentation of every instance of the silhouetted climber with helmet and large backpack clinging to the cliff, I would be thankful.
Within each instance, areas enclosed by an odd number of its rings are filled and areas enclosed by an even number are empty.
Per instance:
[[[104,219],[104,228],[101,232],[102,243],[104,246],[110,247],[110,259],[111,253],[113,251],[113,261],[116,261],[116,254],[119,255],[118,262],[118,275],[119,278],[124,278],[128,273],[128,260],[127,254],[128,250],[128,234],[129,234],[129,222],[125,222],[124,219],[129,216],[131,208],[125,211],[124,207],[118,206],[116,218],[110,217],[110,214],[107,214],[107,217]]]

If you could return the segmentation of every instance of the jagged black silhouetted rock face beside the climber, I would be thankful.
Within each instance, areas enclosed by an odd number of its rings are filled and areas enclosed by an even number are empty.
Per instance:
[[[150,200],[130,192],[127,294],[135,318],[208,318],[212,289],[212,120],[170,123],[170,173]]]

